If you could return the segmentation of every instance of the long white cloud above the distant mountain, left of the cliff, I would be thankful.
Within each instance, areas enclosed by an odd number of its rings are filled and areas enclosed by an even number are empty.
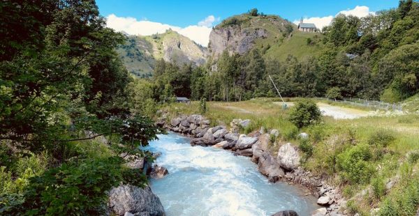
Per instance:
[[[115,31],[125,31],[131,35],[151,36],[154,33],[164,33],[168,29],[177,31],[195,41],[196,43],[206,47],[210,41],[210,33],[214,22],[218,22],[220,18],[210,15],[204,20],[200,21],[198,25],[186,26],[185,28],[179,26],[170,26],[169,24],[162,24],[160,22],[151,22],[148,20],[136,20],[133,17],[117,17],[117,15],[108,15],[106,25]]]

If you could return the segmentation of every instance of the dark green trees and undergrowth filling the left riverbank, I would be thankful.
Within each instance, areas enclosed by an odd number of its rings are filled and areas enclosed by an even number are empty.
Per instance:
[[[93,0],[0,8],[0,215],[103,215],[111,187],[146,182],[119,153],[159,130],[131,109],[124,36]]]

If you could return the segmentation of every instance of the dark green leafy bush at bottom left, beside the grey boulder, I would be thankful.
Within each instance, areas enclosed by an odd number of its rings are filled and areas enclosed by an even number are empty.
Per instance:
[[[124,178],[122,159],[85,159],[64,163],[31,178],[21,211],[28,215],[101,215],[105,194]]]

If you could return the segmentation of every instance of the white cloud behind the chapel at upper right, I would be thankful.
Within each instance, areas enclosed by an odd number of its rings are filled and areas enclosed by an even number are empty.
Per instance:
[[[374,15],[375,13],[369,11],[369,8],[367,6],[356,6],[353,9],[342,10],[339,13],[337,13],[337,15],[339,14],[353,15],[355,17],[366,17],[367,15],[370,15],[370,14]],[[309,17],[309,18],[304,18],[303,22],[314,23],[318,29],[323,29],[324,26],[330,25],[330,23],[332,22],[335,16],[330,15],[327,17]],[[293,23],[299,24],[300,20],[295,20]]]

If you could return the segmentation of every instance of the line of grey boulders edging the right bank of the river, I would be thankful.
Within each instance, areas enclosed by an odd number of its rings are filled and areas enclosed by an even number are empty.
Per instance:
[[[173,132],[191,137],[192,146],[213,146],[233,151],[235,155],[251,157],[258,164],[258,171],[272,183],[284,180],[288,183],[303,185],[311,194],[318,197],[319,208],[313,215],[346,215],[343,210],[346,201],[338,190],[328,185],[323,178],[300,166],[300,151],[291,143],[281,144],[277,155],[269,151],[271,137],[278,137],[279,130],[265,132],[263,128],[250,134],[240,134],[239,129],[250,124],[250,120],[235,119],[226,126],[210,127],[210,120],[201,115],[179,116],[166,121],[161,118],[158,124]],[[307,139],[308,134],[302,133],[300,139]]]

